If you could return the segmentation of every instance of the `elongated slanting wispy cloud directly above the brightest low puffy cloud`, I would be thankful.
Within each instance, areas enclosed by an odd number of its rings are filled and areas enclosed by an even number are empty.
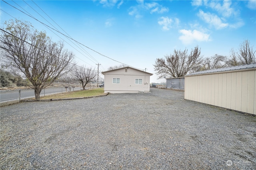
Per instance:
[[[198,16],[206,23],[213,25],[216,29],[223,29],[228,26],[228,23],[223,23],[222,20],[215,14],[210,14],[199,10]]]

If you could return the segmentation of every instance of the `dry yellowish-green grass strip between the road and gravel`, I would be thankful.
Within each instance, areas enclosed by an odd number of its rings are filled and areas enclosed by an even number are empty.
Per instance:
[[[84,98],[91,96],[104,95],[104,88],[94,88],[89,90],[79,90],[75,92],[64,92],[62,94],[53,94],[49,96],[40,97],[40,99],[64,99],[64,98]]]

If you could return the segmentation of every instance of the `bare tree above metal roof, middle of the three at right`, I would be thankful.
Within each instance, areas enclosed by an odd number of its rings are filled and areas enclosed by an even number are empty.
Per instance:
[[[212,70],[221,68],[226,65],[226,57],[223,55],[215,55],[213,57],[207,57],[202,61],[202,67],[200,70]]]

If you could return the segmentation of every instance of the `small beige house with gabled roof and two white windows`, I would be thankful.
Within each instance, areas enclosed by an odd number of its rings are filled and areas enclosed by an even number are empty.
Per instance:
[[[153,75],[129,66],[105,71],[102,74],[105,93],[149,92],[150,76]]]

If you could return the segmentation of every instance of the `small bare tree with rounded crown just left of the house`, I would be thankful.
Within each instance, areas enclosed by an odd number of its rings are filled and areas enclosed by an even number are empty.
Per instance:
[[[86,90],[86,84],[94,82],[96,76],[97,71],[93,70],[92,67],[86,68],[86,66],[75,66],[73,69],[73,79],[82,84],[83,90]]]

